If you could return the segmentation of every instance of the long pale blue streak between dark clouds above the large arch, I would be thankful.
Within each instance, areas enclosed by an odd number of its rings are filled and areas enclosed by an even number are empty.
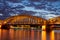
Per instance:
[[[44,9],[35,9],[34,7],[27,7],[27,6],[25,6],[25,8],[22,8],[21,10],[33,11],[33,12],[55,13],[55,11],[48,11],[48,10],[44,10]]]

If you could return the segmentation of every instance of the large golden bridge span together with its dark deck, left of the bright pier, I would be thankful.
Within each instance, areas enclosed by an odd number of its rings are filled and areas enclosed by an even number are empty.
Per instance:
[[[12,26],[20,27],[21,25],[42,26],[47,24],[47,20],[31,15],[18,15],[5,19],[2,24],[2,28],[5,25],[6,27],[9,26],[9,28]]]

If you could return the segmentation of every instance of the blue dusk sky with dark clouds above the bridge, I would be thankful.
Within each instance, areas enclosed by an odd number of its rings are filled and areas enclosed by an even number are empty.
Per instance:
[[[20,14],[44,19],[60,16],[60,0],[0,0],[0,19]]]

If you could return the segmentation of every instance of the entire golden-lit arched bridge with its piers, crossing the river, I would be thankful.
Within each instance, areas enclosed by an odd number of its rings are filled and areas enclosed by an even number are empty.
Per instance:
[[[58,19],[52,18],[49,20],[45,20],[43,18],[31,16],[31,15],[17,15],[3,20],[1,23],[2,24],[1,28],[37,27],[37,28],[42,28],[44,30],[47,28],[49,30],[54,28],[54,26],[57,26],[58,23],[60,24],[60,20],[58,21]]]

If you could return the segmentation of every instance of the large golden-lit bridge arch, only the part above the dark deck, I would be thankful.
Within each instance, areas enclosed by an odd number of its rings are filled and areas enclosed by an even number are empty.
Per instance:
[[[46,20],[43,18],[39,18],[31,15],[18,15],[7,18],[4,23],[5,24],[46,24]]]

